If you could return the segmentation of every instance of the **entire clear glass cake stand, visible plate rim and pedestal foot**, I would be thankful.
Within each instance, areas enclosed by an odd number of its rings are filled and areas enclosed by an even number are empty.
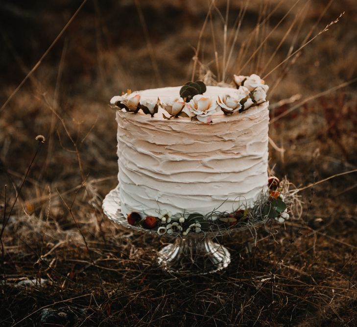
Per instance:
[[[103,212],[110,220],[128,229],[157,235],[156,230],[128,224],[120,210],[119,185],[105,197]],[[222,230],[192,232],[186,236],[165,234],[161,238],[172,243],[159,251],[157,263],[168,273],[180,275],[205,275],[222,270],[230,264],[231,255],[225,247],[213,241],[218,235],[222,236]]]

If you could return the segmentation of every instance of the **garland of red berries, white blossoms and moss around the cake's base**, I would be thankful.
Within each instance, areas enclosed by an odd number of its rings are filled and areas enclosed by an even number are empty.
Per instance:
[[[280,181],[272,176],[268,179],[269,190],[263,192],[251,208],[241,206],[233,212],[220,212],[219,208],[202,215],[200,213],[172,213],[158,210],[158,215],[142,217],[138,212],[127,214],[129,225],[156,230],[162,236],[187,236],[194,233],[236,231],[266,225],[270,221],[284,224],[289,218],[300,218],[302,202],[298,190],[286,178]]]

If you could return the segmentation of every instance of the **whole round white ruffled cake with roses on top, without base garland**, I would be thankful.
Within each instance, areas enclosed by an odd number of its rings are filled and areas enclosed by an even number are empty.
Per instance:
[[[267,85],[184,86],[113,97],[117,109],[119,201],[126,216],[234,212],[267,189]]]

